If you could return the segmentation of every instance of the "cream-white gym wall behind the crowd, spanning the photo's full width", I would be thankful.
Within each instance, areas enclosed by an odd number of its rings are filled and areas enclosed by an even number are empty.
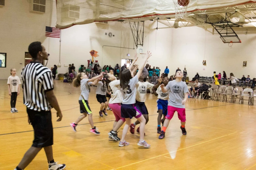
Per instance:
[[[0,79],[7,79],[13,67],[20,76],[24,67],[24,54],[33,41],[41,41],[50,53],[47,67],[59,63],[60,39],[45,36],[45,26],[54,27],[56,24],[55,2],[47,0],[46,13],[38,14],[29,12],[29,0],[6,1],[6,7],[0,8],[0,13],[4,14],[0,18],[0,52],[7,53],[7,68],[0,68]],[[243,74],[249,74],[251,78],[256,77],[254,27],[237,28],[242,43],[234,44],[232,48],[222,43],[216,32],[212,35],[198,27],[158,30],[156,27],[156,21],[145,21],[144,48],[153,54],[148,63],[152,67],[160,67],[161,73],[166,65],[171,74],[175,73],[177,67],[183,70],[186,65],[190,78],[194,77],[196,72],[200,76],[209,77],[213,76],[213,71],[222,73],[223,70],[227,75],[233,72],[237,78],[241,78]],[[158,27],[166,26],[158,23]],[[105,35],[109,32],[115,36],[110,38]],[[111,64],[114,67],[117,63],[121,64],[121,59],[133,59],[136,51],[116,47],[133,48],[133,44],[128,22],[109,22],[108,25],[91,23],[61,30],[61,66],[58,67],[58,72],[67,72],[68,67],[64,67],[64,64],[74,63],[77,70],[81,64],[87,65],[87,60],[91,59],[90,50],[99,52],[99,57],[95,60],[98,60],[101,66]],[[140,56],[138,63],[142,60]],[[203,60],[206,60],[206,66],[202,65]],[[247,61],[247,67],[243,67],[243,61]]]

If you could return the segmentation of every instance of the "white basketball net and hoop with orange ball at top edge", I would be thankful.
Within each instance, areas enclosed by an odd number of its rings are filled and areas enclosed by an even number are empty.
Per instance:
[[[187,7],[189,0],[173,0],[175,7],[175,18],[179,20],[180,18],[185,19],[187,16]]]

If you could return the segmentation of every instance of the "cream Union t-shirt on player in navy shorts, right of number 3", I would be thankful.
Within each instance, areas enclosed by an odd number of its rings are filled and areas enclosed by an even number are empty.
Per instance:
[[[149,82],[141,82],[139,81],[136,84],[136,100],[138,102],[145,102],[147,89],[152,89],[154,84]]]

